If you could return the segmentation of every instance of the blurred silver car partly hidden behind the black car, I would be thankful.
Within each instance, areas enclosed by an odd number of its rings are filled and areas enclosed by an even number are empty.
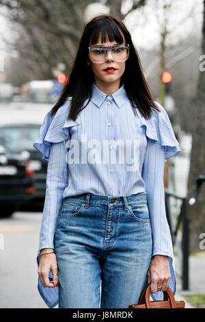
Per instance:
[[[12,154],[27,156],[29,171],[33,171],[35,179],[35,194],[27,203],[22,203],[20,210],[41,211],[44,205],[47,163],[42,160],[41,153],[33,147],[39,130],[40,125],[36,123],[0,125],[0,145]]]

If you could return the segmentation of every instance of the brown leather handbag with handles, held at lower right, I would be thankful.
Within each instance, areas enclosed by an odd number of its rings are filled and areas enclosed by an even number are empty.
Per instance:
[[[163,292],[163,301],[150,301],[151,283],[148,284],[141,293],[139,304],[130,304],[128,308],[184,308],[184,301],[176,301],[171,288]]]

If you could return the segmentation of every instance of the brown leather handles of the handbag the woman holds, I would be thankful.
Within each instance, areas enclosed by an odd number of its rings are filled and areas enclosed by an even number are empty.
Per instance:
[[[146,286],[146,288],[143,289],[143,292],[141,293],[141,297],[139,299],[139,304],[146,304],[146,308],[151,308],[150,304],[150,290],[151,290],[151,283]],[[176,308],[176,301],[174,298],[174,294],[172,293],[171,288],[167,286],[167,290],[163,292],[163,301],[167,301],[169,299],[171,307]]]

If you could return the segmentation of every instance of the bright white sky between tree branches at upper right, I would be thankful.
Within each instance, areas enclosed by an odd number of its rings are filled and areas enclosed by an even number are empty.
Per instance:
[[[172,8],[167,14],[167,29],[169,44],[175,45],[178,40],[185,39],[191,34],[202,34],[203,0],[172,0]],[[124,1],[124,12],[132,0]],[[131,32],[133,43],[139,49],[149,50],[159,45],[159,26],[164,20],[162,10],[156,10],[155,0],[148,0],[147,5],[129,14],[124,23]],[[163,3],[163,0],[157,0]],[[128,9],[127,9],[128,10]],[[158,16],[157,16],[158,15]]]

